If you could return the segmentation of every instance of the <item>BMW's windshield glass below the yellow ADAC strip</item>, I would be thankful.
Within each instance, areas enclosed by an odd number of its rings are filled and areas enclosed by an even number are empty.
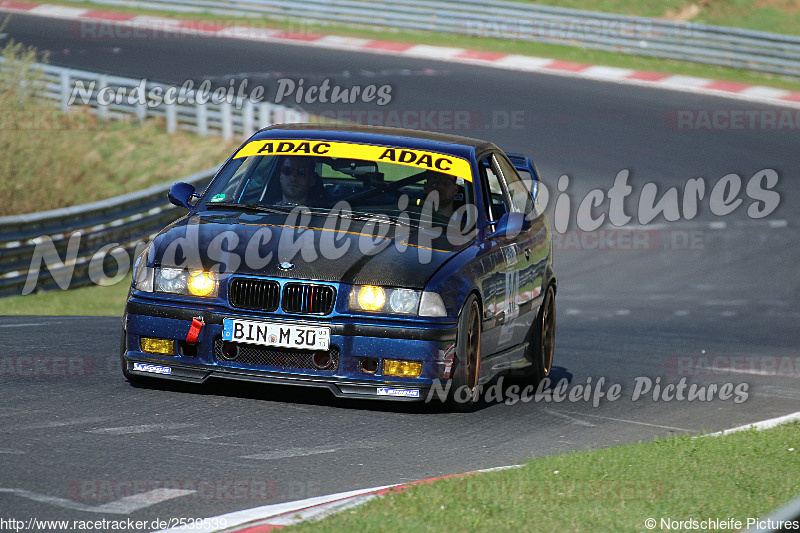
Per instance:
[[[410,224],[419,223],[421,217],[441,224],[457,221],[462,227],[475,223],[472,177],[465,160],[458,161],[458,171],[444,164],[440,165],[443,171],[434,171],[349,157],[240,157],[243,152],[211,184],[201,209],[236,204],[288,211],[305,206],[314,212],[335,209],[339,214],[388,217]]]

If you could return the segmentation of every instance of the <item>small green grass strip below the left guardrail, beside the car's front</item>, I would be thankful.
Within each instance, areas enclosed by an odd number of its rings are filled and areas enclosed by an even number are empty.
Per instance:
[[[0,298],[0,315],[122,316],[131,285],[129,274],[119,283],[90,285],[66,291],[37,292]]]

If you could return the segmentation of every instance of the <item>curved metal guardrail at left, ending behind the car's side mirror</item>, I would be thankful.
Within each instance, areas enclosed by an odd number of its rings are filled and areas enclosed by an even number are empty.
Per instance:
[[[183,181],[202,190],[214,172],[198,172]],[[173,183],[81,206],[0,217],[0,297],[22,294],[29,270],[39,272],[38,291],[63,288],[58,282],[62,276],[75,288],[108,279],[100,269],[114,274],[125,262],[130,266],[137,248],[185,212],[167,200]],[[119,251],[102,253],[111,248],[124,251],[126,259]],[[129,268],[124,270],[122,274]]]

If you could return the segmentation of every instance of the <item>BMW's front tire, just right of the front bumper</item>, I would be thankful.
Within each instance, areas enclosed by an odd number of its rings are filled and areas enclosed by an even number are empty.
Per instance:
[[[475,294],[469,295],[461,309],[457,335],[447,407],[453,411],[469,412],[474,408],[480,390],[481,309]]]

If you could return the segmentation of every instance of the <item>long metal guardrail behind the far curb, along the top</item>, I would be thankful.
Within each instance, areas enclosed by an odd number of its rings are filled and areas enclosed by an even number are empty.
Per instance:
[[[78,0],[76,0],[78,1]],[[800,37],[504,0],[89,0],[536,41],[800,77]]]

